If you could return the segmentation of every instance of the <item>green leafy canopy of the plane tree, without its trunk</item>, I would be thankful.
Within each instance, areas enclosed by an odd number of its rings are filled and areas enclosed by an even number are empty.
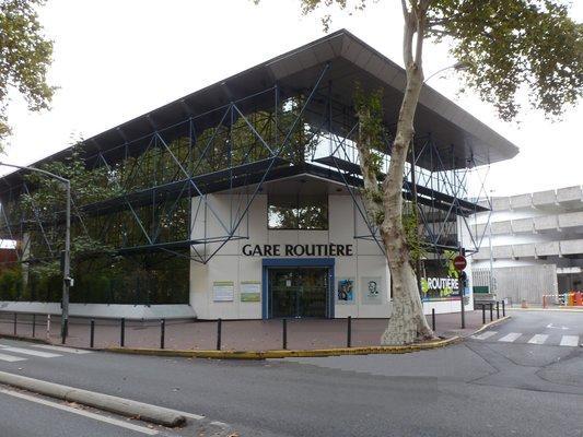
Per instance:
[[[336,5],[364,11],[380,0],[300,0],[303,14]],[[504,120],[521,109],[527,87],[533,108],[558,117],[583,95],[583,24],[561,0],[404,1],[423,12],[422,37],[446,43],[464,64],[463,80]],[[324,13],[327,31],[331,15]],[[419,24],[416,24],[419,27]],[[419,36],[419,33],[418,33]]]

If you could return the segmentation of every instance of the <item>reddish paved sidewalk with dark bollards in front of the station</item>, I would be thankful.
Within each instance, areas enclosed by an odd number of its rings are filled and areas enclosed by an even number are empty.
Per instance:
[[[486,321],[490,321],[489,311]],[[502,314],[500,315],[502,317]],[[495,310],[493,319],[495,320]],[[431,316],[428,317],[431,324]],[[49,341],[60,344],[60,319],[51,318]],[[386,319],[352,319],[352,346],[377,346],[386,327]],[[482,326],[480,311],[466,312],[466,329],[460,329],[459,314],[435,316],[435,331],[443,338],[468,335]],[[215,350],[217,321],[168,320],[164,327],[164,347],[175,350]],[[347,319],[289,319],[288,349],[328,349],[347,345]],[[70,319],[70,346],[90,346],[90,320]],[[161,322],[126,321],[125,346],[160,347]],[[0,334],[14,334],[13,315],[0,315]],[[33,336],[32,316],[19,315],[16,335]],[[119,320],[95,320],[94,347],[120,345]],[[46,316],[36,316],[35,338],[47,339]],[[269,351],[282,349],[281,320],[223,320],[221,349],[224,351]]]

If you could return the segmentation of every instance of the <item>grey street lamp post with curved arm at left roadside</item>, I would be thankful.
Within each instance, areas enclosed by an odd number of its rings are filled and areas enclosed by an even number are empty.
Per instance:
[[[65,184],[67,194],[65,225],[65,256],[62,261],[62,297],[61,297],[61,343],[65,344],[69,331],[69,288],[71,286],[71,181],[54,173],[40,168],[24,167],[0,162],[0,166],[40,173]]]

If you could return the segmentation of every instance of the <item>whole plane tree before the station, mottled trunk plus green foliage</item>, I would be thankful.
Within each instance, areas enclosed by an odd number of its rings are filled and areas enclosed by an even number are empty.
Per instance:
[[[329,8],[363,12],[377,1],[300,0],[300,5],[303,14],[326,10],[323,23],[327,29]],[[400,9],[407,83],[388,175],[382,184],[375,177],[374,160],[366,156],[374,138],[361,135],[357,144],[366,190],[363,200],[369,214],[378,217],[393,282],[393,316],[382,338],[384,344],[433,338],[410,265],[401,213],[405,163],[423,85],[424,42],[430,38],[448,43],[451,55],[466,67],[465,84],[493,105],[503,120],[513,119],[521,109],[522,87],[528,88],[530,106],[551,118],[560,116],[583,94],[583,25],[569,17],[563,1],[401,0]],[[366,111],[359,114],[361,125],[368,123],[366,116]]]

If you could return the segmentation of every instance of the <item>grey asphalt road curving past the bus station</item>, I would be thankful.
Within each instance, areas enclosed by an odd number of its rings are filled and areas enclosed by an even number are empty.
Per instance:
[[[23,358],[0,359],[0,370],[207,417],[159,429],[167,435],[197,436],[220,421],[230,425],[224,435],[241,436],[583,436],[583,347],[560,345],[564,335],[583,341],[583,312],[511,315],[494,333],[405,355],[220,362],[53,351],[60,356],[47,357],[2,349],[40,351],[0,340],[0,358]],[[535,335],[540,344],[528,343]],[[2,392],[0,423],[2,437],[143,435]]]

